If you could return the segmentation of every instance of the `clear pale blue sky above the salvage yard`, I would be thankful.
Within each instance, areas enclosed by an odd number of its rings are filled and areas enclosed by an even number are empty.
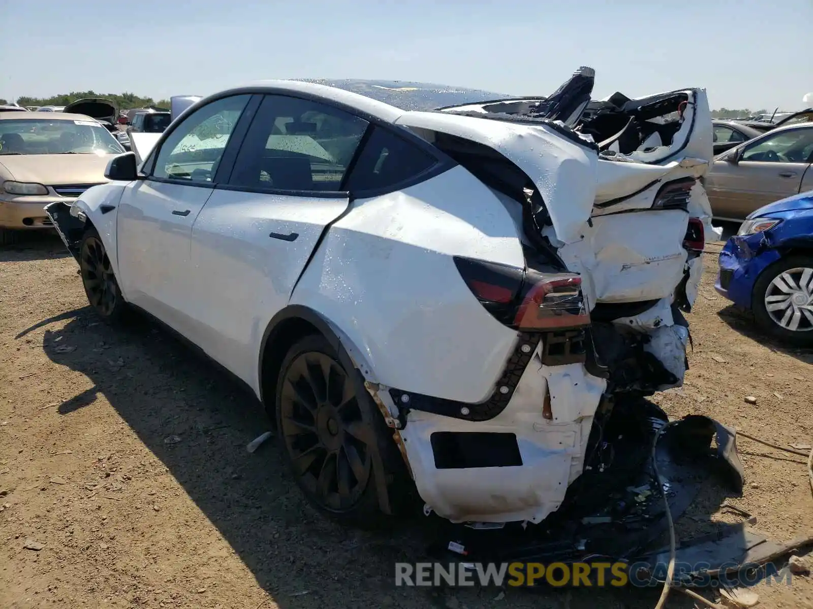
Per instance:
[[[813,0],[0,0],[0,97],[161,99],[265,78],[419,80],[593,97],[702,86],[713,108],[813,91]]]

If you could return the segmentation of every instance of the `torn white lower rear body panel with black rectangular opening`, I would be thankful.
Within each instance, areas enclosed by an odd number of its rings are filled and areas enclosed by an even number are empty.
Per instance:
[[[559,508],[567,487],[584,469],[593,415],[606,381],[583,365],[541,365],[537,345],[511,402],[489,421],[460,421],[410,410],[401,436],[420,496],[451,520],[537,523]],[[552,417],[540,404],[550,400]],[[437,442],[450,434],[453,442]],[[469,442],[469,434],[480,435]],[[520,460],[506,461],[508,434]],[[450,455],[451,453],[454,453]],[[454,467],[444,464],[454,461]]]

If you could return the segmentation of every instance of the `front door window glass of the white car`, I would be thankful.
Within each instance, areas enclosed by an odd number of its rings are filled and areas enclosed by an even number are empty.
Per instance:
[[[211,182],[228,138],[250,97],[224,97],[190,114],[164,140],[155,159],[153,176]]]

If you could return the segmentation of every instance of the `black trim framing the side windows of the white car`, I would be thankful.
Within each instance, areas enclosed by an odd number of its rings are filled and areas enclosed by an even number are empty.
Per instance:
[[[350,159],[350,163],[348,163],[347,169],[345,171],[345,175],[342,177],[342,184],[344,186],[346,183],[347,176],[350,175],[350,171],[355,166],[356,160],[359,158],[359,153],[362,149],[363,144],[367,142],[367,138],[369,138],[369,133],[372,132],[372,126],[375,125],[376,127],[380,127],[389,131],[394,136],[401,137],[402,139],[406,140],[407,142],[415,145],[432,158],[437,160],[432,166],[429,166],[428,169],[425,171],[420,172],[420,174],[412,176],[410,179],[402,180],[402,182],[397,184],[390,184],[388,186],[382,188],[371,188],[367,190],[357,190],[355,192],[346,192],[346,191],[324,191],[324,190],[282,190],[280,188],[258,188],[258,187],[242,187],[242,186],[233,186],[232,184],[227,184],[225,180],[221,180],[222,176],[220,176],[220,170],[224,169],[224,159],[221,159],[220,166],[218,167],[218,175],[215,175],[215,180],[213,182],[204,184],[204,185],[213,185],[215,190],[232,190],[236,192],[257,192],[260,194],[273,194],[273,195],[280,195],[283,197],[309,197],[309,198],[318,198],[322,197],[325,199],[333,199],[333,198],[342,198],[346,197],[349,198],[351,201],[355,199],[367,199],[371,197],[380,197],[385,194],[389,194],[389,192],[396,192],[398,190],[402,190],[404,188],[409,188],[410,186],[414,186],[415,184],[420,184],[428,179],[434,178],[436,175],[441,175],[446,171],[449,171],[452,167],[457,166],[458,163],[454,161],[454,159],[450,158],[446,153],[442,152],[440,149],[437,149],[433,145],[429,144],[428,141],[424,140],[420,136],[415,135],[415,133],[411,132],[406,127],[398,127],[393,123],[389,123],[388,121],[379,119],[372,114],[367,114],[363,110],[359,110],[358,108],[354,108],[353,106],[348,106],[347,104],[343,104],[341,102],[335,102],[331,99],[327,99],[325,97],[321,97],[319,95],[312,95],[311,93],[304,93],[301,91],[291,91],[289,89],[281,89],[276,87],[242,87],[240,89],[229,89],[228,91],[224,91],[222,93],[217,93],[214,96],[207,97],[206,99],[202,100],[201,102],[196,103],[194,106],[191,106],[189,110],[186,111],[185,114],[189,113],[192,114],[194,110],[197,110],[200,106],[205,106],[211,102],[216,102],[219,99],[224,97],[232,97],[233,95],[242,95],[246,93],[252,93],[256,97],[258,97],[257,106],[254,108],[254,112],[251,114],[251,120],[254,120],[254,116],[257,113],[257,109],[259,108],[259,103],[262,101],[262,97],[267,95],[276,95],[276,96],[283,96],[283,97],[295,97],[297,99],[306,100],[308,102],[316,102],[323,104],[324,106],[328,106],[334,108],[336,110],[341,110],[346,112],[347,114],[352,114],[359,119],[363,119],[367,121],[367,128],[364,130],[364,133],[359,140],[359,145],[356,147],[354,152],[353,158]],[[252,101],[254,98],[252,98]],[[203,102],[206,102],[204,104]],[[251,103],[250,102],[250,103]],[[200,105],[200,106],[198,106]],[[248,106],[246,106],[246,109]],[[243,115],[241,116],[241,121],[243,116],[246,116],[246,110],[243,111]],[[179,121],[180,123],[180,121]],[[176,126],[176,125],[175,125]],[[239,126],[239,123],[238,123]],[[237,138],[234,136],[228,141],[228,145],[226,146],[226,151],[224,152],[224,158],[229,153],[229,148],[233,145],[236,147],[234,152],[234,157],[231,159],[229,163],[229,176],[231,177],[231,171],[234,167],[234,162],[237,160],[237,152],[239,152],[240,147],[243,144],[243,141],[246,139],[246,133],[248,132],[248,128],[246,127],[245,132],[241,134],[239,139],[239,146]],[[167,130],[168,131],[168,130]],[[235,127],[235,132],[237,131],[237,127]],[[167,132],[164,132],[165,136]],[[163,144],[162,138],[159,141],[159,145]],[[156,145],[157,147],[157,145]],[[150,152],[152,154],[152,152]],[[151,170],[151,168],[150,168]],[[151,179],[151,178],[150,178]],[[172,180],[172,184],[188,184],[186,182],[182,182],[180,180]]]

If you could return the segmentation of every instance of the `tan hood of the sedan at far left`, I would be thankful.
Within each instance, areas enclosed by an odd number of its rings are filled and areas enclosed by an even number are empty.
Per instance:
[[[100,184],[107,163],[115,154],[8,154],[0,155],[3,179],[37,184]],[[5,171],[2,171],[5,169]]]

